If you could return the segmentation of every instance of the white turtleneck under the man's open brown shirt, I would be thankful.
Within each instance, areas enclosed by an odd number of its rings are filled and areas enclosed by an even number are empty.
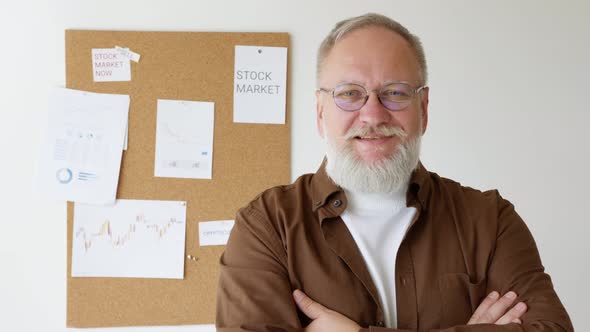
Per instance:
[[[389,194],[345,190],[347,206],[340,215],[377,287],[385,325],[397,327],[395,259],[416,209],[406,206],[406,188]]]

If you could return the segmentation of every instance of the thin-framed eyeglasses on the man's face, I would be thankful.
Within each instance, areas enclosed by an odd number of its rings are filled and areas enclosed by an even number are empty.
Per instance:
[[[379,102],[385,108],[390,111],[401,111],[408,107],[414,96],[425,87],[426,85],[414,88],[406,82],[393,82],[380,89],[368,91],[360,84],[343,83],[331,90],[319,88],[318,91],[331,93],[336,106],[346,112],[360,110],[369,100],[369,93],[373,91],[378,93]]]

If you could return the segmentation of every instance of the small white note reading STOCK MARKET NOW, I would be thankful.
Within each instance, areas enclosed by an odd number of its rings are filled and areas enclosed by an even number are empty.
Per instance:
[[[116,48],[92,49],[94,82],[131,81],[131,63]]]

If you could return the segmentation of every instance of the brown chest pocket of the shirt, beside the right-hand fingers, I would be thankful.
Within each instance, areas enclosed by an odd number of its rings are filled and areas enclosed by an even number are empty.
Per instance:
[[[471,282],[469,275],[450,273],[438,280],[441,294],[441,328],[467,324],[486,294],[486,279]]]

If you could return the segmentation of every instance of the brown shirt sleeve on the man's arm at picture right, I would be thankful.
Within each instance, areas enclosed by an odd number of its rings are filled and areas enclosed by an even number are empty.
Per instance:
[[[551,278],[541,263],[531,232],[514,206],[496,191],[498,229],[496,246],[487,273],[488,293],[518,294],[514,303],[527,304],[522,324],[459,325],[431,332],[573,332],[572,322],[555,293]],[[404,329],[368,327],[362,332],[410,332]],[[415,332],[415,331],[414,331]]]

